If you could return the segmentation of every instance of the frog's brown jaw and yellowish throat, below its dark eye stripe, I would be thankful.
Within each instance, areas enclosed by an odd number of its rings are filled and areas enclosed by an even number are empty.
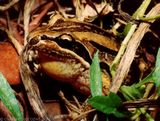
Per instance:
[[[53,41],[39,42],[34,49],[38,51],[42,70],[55,79],[71,82],[90,67],[82,57]]]

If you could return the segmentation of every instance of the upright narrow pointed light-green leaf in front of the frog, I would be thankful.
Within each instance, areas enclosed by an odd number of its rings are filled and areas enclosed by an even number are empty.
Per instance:
[[[93,97],[102,95],[102,74],[99,65],[98,51],[95,53],[90,67],[90,89]]]

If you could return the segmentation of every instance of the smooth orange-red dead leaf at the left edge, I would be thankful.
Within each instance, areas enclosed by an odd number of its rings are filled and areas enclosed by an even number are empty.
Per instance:
[[[19,57],[9,42],[0,43],[0,72],[4,74],[9,84],[20,84]]]

